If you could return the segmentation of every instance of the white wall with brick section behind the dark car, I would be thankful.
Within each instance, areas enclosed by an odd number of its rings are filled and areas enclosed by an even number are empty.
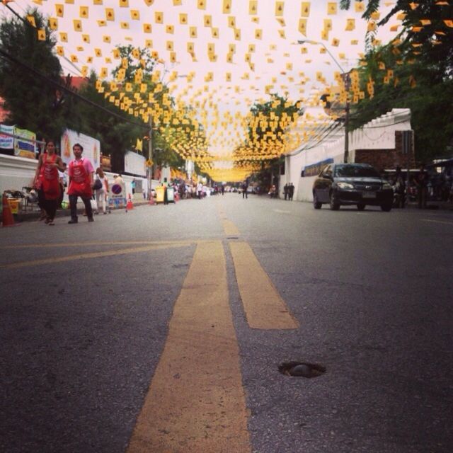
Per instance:
[[[377,168],[406,167],[414,161],[411,154],[402,154],[402,131],[411,130],[411,110],[394,108],[349,134],[350,162],[369,163]],[[412,140],[413,143],[413,140]],[[311,188],[316,176],[301,176],[306,166],[326,159],[343,162],[345,149],[344,128],[311,149],[298,149],[285,158],[285,175],[280,176],[280,196],[286,183],[294,184],[294,200],[313,201]]]

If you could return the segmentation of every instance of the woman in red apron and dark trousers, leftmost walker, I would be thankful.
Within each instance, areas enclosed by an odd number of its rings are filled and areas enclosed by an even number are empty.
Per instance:
[[[38,195],[40,207],[45,213],[45,223],[48,225],[55,225],[55,212],[61,191],[58,170],[64,171],[65,168],[62,158],[55,154],[55,143],[49,140],[45,146],[45,153],[40,154],[38,159],[34,180],[34,187],[38,194],[40,193]]]

